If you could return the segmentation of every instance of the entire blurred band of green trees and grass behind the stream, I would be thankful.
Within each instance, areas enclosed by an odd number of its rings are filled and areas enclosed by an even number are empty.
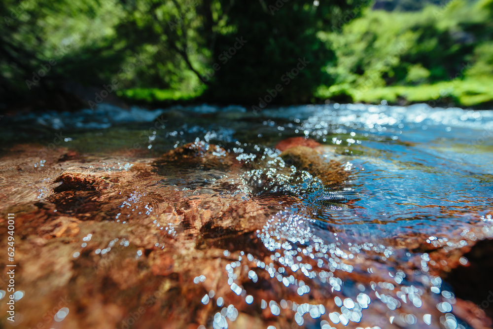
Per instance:
[[[6,0],[12,104],[488,107],[493,0]]]

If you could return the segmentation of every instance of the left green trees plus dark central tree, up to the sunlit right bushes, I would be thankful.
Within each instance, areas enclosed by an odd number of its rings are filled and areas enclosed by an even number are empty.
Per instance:
[[[334,59],[317,32],[336,18],[341,25],[345,10],[363,4],[5,0],[0,96],[70,108],[115,89],[207,87],[205,99],[239,103],[282,84],[275,102],[307,102],[318,84],[330,82],[323,67]]]

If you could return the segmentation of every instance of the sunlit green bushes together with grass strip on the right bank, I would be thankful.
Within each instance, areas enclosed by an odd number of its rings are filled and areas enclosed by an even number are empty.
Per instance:
[[[319,87],[317,96],[340,97],[344,91],[372,103],[491,102],[481,83],[493,77],[492,4],[453,0],[419,12],[367,10],[339,33],[321,32],[337,65],[327,69],[335,85]]]

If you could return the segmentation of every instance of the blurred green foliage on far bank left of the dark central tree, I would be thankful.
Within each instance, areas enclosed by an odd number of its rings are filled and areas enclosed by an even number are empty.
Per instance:
[[[208,62],[206,2],[3,1],[0,96],[60,101],[60,93],[78,94],[86,102],[76,106],[87,107],[95,95],[85,90],[110,84],[196,93],[203,85],[191,67]]]

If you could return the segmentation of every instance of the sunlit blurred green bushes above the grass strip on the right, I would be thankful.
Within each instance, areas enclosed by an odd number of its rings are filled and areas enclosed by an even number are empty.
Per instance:
[[[456,0],[416,13],[368,10],[341,33],[324,34],[337,54],[328,72],[354,89],[451,80],[473,63],[477,69],[470,72],[489,73],[492,3]]]

